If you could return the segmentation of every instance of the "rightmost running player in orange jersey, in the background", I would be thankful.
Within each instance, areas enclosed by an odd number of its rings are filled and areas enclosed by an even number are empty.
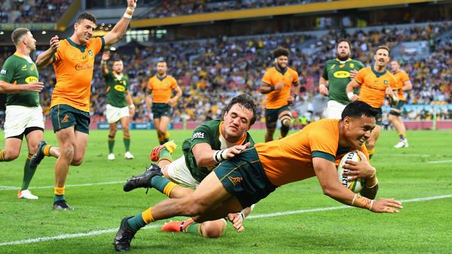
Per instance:
[[[410,77],[408,74],[401,69],[401,65],[397,61],[391,62],[391,70],[394,77],[396,77],[397,85],[393,89],[397,89],[398,103],[395,107],[391,108],[389,111],[389,121],[392,122],[394,128],[397,130],[398,137],[400,140],[394,147],[396,149],[408,147],[408,139],[405,130],[405,124],[403,124],[403,119],[401,117],[402,107],[405,105],[405,92],[408,92],[412,88]]]

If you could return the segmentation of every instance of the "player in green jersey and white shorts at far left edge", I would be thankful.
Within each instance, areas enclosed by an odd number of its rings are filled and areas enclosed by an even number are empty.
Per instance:
[[[22,139],[25,136],[29,155],[25,161],[24,179],[17,198],[38,199],[31,194],[29,185],[36,171],[30,160],[38,149],[38,142],[44,133],[44,117],[39,104],[43,83],[39,82],[38,68],[30,58],[36,49],[36,40],[27,28],[17,28],[11,34],[16,46],[0,70],[0,92],[6,96],[5,149],[0,150],[0,162],[15,160],[19,156]]]

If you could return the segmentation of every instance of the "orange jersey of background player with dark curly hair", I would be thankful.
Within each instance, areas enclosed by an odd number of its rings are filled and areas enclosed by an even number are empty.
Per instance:
[[[287,101],[289,101],[291,96],[292,84],[298,82],[298,73],[289,67],[284,73],[280,72],[276,67],[271,67],[266,70],[264,77],[262,77],[262,82],[272,87],[281,81],[284,83],[284,87],[282,90],[274,90],[267,94],[265,108],[281,108],[287,105]]]

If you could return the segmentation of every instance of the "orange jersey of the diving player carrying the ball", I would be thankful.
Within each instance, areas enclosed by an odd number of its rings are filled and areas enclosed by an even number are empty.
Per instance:
[[[313,157],[336,166],[352,149],[339,149],[339,119],[322,119],[283,139],[255,145],[262,167],[273,185],[281,186],[315,176]],[[369,160],[363,145],[360,149]]]

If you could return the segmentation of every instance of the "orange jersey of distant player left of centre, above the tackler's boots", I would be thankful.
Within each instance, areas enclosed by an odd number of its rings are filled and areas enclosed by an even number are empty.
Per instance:
[[[152,90],[152,102],[154,103],[167,103],[172,96],[171,90],[177,86],[175,78],[168,75],[162,79],[153,76],[147,83],[147,88]]]

